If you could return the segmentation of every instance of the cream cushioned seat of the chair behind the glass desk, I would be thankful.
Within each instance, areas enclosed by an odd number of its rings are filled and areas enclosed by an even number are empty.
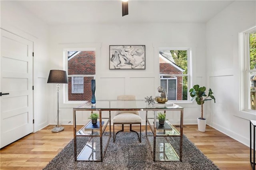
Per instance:
[[[120,113],[114,116],[113,123],[141,123],[141,117],[134,113]]]

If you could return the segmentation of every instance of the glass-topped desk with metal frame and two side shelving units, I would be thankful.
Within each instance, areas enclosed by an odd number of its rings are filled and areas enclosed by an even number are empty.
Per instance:
[[[154,161],[182,161],[182,135],[183,135],[183,107],[176,104],[165,107],[140,107],[138,102],[141,101],[118,101],[116,105],[110,104],[108,101],[103,105],[100,102],[96,105],[91,103],[83,103],[73,108],[74,119],[74,156],[75,160],[83,161],[102,161],[108,142],[111,138],[111,111],[146,111],[146,138],[150,146],[150,150]],[[88,121],[82,128],[76,128],[76,112],[77,111],[99,111],[99,121],[96,127],[93,127],[91,121]],[[109,111],[108,117],[102,117],[102,111]],[[153,111],[153,117],[148,117],[148,111]],[[166,121],[164,127],[159,127],[156,121],[157,111],[180,111],[180,129],[179,131]],[[166,113],[167,115],[169,113]],[[109,126],[108,132],[106,127]],[[150,127],[150,132],[148,132]],[[168,137],[174,136],[180,138],[179,154],[177,154],[170,144]],[[86,137],[85,140],[78,140],[79,137]],[[77,146],[82,145],[82,149]]]

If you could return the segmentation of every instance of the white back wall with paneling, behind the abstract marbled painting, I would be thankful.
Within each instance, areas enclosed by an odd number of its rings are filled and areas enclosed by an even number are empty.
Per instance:
[[[192,47],[195,66],[193,83],[206,84],[205,24],[129,23],[51,26],[51,69],[63,69],[63,48],[86,47],[93,43],[100,44],[100,54],[96,54],[96,100],[116,99],[116,96],[121,94],[134,94],[140,100],[145,100],[144,97],[150,95],[155,97],[156,89],[160,85],[158,47]],[[146,45],[146,69],[109,70],[109,45]],[[197,65],[203,67],[196,67]],[[54,90],[55,87],[52,86],[50,124],[56,123]],[[76,105],[60,104],[60,123],[72,123],[72,107]],[[180,103],[180,105],[185,107],[184,123],[196,124],[196,118],[200,115],[197,105],[192,103]],[[141,115],[144,121],[145,113]],[[84,119],[87,117],[88,115],[84,116]],[[172,120],[172,123],[179,122],[177,113],[171,115],[169,120]],[[84,120],[78,119],[78,123],[83,124]]]

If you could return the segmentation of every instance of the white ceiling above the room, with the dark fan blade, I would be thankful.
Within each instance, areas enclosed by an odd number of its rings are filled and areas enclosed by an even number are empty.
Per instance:
[[[49,25],[84,23],[205,23],[233,1],[129,0],[122,17],[121,0],[17,1]]]

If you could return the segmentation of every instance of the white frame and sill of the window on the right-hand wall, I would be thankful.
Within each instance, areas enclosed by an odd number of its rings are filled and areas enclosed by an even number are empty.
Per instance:
[[[240,107],[236,116],[244,119],[255,119],[255,111],[250,107],[250,76],[256,70],[250,70],[249,34],[256,31],[256,26],[239,33],[239,58],[240,58]]]

